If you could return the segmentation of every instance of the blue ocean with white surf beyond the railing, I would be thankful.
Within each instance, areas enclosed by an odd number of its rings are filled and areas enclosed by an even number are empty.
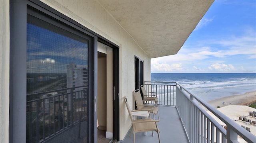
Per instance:
[[[178,82],[206,102],[256,90],[256,73],[151,73],[151,81]]]

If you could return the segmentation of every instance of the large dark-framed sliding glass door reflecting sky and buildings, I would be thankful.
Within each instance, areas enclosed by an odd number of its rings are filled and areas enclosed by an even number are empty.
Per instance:
[[[42,6],[10,2],[10,142],[94,142],[97,38]]]

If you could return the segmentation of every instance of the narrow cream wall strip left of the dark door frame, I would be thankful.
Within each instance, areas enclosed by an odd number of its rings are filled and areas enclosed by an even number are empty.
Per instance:
[[[9,142],[9,1],[0,0],[0,143]]]

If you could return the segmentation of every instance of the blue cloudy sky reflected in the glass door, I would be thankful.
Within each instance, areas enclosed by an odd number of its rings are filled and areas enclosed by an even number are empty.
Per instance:
[[[56,30],[60,32],[27,24],[27,73],[66,73],[70,63],[87,68],[88,41],[83,43],[59,34],[73,35],[68,31]]]

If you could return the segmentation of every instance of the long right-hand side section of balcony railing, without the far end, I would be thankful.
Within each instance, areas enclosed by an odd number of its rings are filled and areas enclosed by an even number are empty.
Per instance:
[[[223,121],[226,129],[199,104]],[[176,107],[190,143],[239,143],[238,135],[248,143],[256,143],[256,136],[178,83]]]

